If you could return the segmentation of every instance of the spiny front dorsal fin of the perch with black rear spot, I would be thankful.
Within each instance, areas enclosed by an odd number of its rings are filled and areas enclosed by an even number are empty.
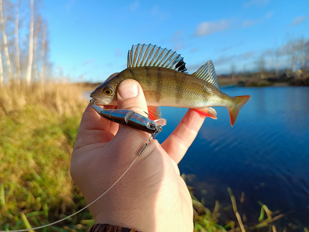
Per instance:
[[[156,45],[133,45],[128,52],[128,68],[155,66],[185,72],[185,64],[180,54]]]

